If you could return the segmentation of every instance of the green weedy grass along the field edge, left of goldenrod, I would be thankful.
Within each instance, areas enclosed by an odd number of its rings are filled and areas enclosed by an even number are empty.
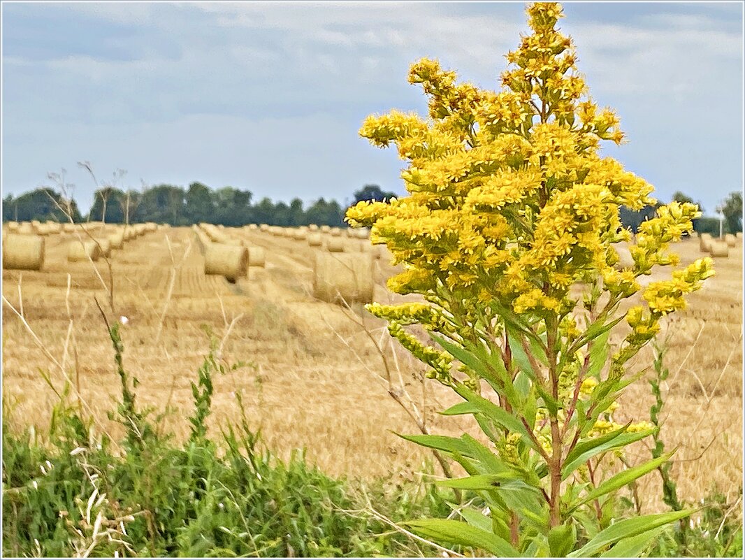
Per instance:
[[[364,488],[327,476],[301,451],[282,461],[245,418],[209,438],[212,377],[224,371],[214,353],[192,385],[191,437],[177,443],[137,409],[136,379],[124,371],[116,327],[110,334],[122,382],[110,417],[125,435],[117,444],[95,435],[66,393],[43,438],[4,425],[4,556],[434,553],[364,510],[369,499],[395,520],[443,516],[451,511],[448,494],[422,484],[397,489],[385,480]]]

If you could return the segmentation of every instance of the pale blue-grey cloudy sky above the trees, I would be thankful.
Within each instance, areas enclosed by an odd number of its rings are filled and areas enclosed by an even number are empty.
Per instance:
[[[708,214],[743,177],[743,4],[565,3],[560,27],[630,143],[606,150]],[[370,113],[426,112],[410,63],[498,88],[524,3],[2,3],[2,190],[65,168],[83,210],[99,179],[200,180],[312,201],[405,192]]]

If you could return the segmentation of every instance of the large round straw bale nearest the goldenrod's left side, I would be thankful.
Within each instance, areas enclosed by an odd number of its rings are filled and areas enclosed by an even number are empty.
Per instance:
[[[329,303],[370,303],[374,286],[371,255],[316,254],[314,298]]]

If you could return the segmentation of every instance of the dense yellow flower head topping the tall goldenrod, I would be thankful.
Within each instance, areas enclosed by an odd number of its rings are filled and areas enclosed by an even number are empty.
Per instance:
[[[564,357],[569,347],[577,350],[574,342],[589,340],[571,316],[578,304],[584,303],[587,329],[603,294],[613,312],[641,290],[639,276],[677,265],[669,246],[692,230],[700,213],[693,204],[659,207],[629,245],[633,266],[616,268],[617,244],[630,242],[620,207],[656,204],[653,186],[601,156],[600,145],[620,145],[624,133],[618,116],[589,96],[572,41],[556,27],[561,6],[536,2],[527,14],[532,33],[507,54],[499,92],[459,84],[437,60],[411,66],[408,80],[428,95],[428,116],[393,111],[370,116],[360,130],[373,145],[397,146],[407,162],[402,179],[409,195],[360,202],[346,220],[370,227],[371,241],[387,245],[403,265],[388,281],[393,292],[429,302],[368,309],[390,321],[391,334],[430,365],[434,377],[451,381],[452,357],[422,345],[402,325],[499,345],[510,315],[533,334],[552,325],[562,355],[551,372],[560,387],[552,389],[560,389],[563,405],[586,367],[579,354]],[[670,280],[650,283],[646,304],[627,314],[632,332],[612,357],[610,374],[711,274],[711,260],[701,259],[673,271]],[[592,394],[592,383],[594,377],[583,380],[583,398]]]

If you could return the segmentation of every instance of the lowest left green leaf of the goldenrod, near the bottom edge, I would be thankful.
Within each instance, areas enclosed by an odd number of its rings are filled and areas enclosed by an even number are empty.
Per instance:
[[[522,556],[504,538],[498,537],[492,532],[470,526],[463,521],[420,519],[406,521],[402,525],[410,527],[413,532],[422,537],[460,544],[463,547],[481,548],[494,556],[506,556],[508,558]]]

